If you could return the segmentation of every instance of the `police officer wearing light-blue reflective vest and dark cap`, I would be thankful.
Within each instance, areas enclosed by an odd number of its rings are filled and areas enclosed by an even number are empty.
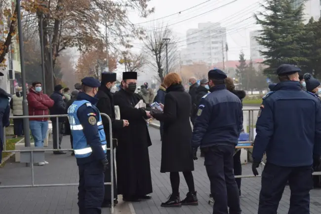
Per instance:
[[[104,199],[104,170],[108,165],[104,127],[94,106],[100,83],[93,77],[81,80],[77,100],[68,108],[73,146],[79,167],[78,206],[80,214],[101,214]]]

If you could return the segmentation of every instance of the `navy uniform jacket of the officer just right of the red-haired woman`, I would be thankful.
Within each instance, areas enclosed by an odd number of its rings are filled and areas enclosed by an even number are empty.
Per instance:
[[[200,102],[195,120],[192,147],[238,144],[242,129],[242,104],[238,96],[216,85]]]

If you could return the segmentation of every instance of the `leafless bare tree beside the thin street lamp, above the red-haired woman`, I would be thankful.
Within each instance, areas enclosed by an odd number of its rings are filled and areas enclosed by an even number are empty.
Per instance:
[[[144,46],[148,50],[148,63],[154,71],[157,72],[159,80],[163,81],[166,71],[166,41],[164,38],[169,38],[167,43],[168,52],[168,72],[175,72],[179,66],[177,55],[176,38],[173,36],[171,29],[168,26],[154,27],[147,32]]]

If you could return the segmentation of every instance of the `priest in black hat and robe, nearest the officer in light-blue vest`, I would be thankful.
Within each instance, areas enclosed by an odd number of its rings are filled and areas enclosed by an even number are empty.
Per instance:
[[[107,114],[111,121],[112,121],[112,139],[116,138],[115,132],[116,131],[122,131],[123,127],[126,127],[129,125],[127,120],[116,120],[115,118],[115,105],[114,105],[114,99],[113,95],[111,92],[111,89],[115,86],[116,80],[117,80],[117,74],[113,72],[103,72],[101,74],[101,83],[100,87],[98,89],[97,93],[97,99],[98,103],[96,104],[96,107],[100,111],[100,113],[105,113]],[[106,140],[107,140],[107,148],[110,148],[110,145],[112,144],[112,149],[116,147],[116,144],[113,142],[110,142],[110,133],[109,133],[109,120],[107,117],[103,116],[103,125],[104,125],[104,130],[105,130],[105,135],[106,135]],[[110,168],[110,163],[113,161],[113,164],[115,166],[114,160],[109,160],[109,166]],[[111,171],[106,170],[105,171],[105,182],[111,182]],[[114,184],[114,205],[118,204],[117,200],[117,185],[116,185],[116,173],[115,173],[115,168],[114,168],[114,178],[113,178],[113,184]],[[105,186],[105,197],[104,197],[104,202],[102,204],[102,207],[111,207],[111,185],[106,185]]]

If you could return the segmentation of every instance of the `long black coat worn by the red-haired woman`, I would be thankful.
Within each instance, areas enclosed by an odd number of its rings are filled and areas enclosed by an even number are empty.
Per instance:
[[[154,118],[164,122],[161,173],[194,171],[190,123],[191,96],[182,85],[167,88],[164,109]]]

